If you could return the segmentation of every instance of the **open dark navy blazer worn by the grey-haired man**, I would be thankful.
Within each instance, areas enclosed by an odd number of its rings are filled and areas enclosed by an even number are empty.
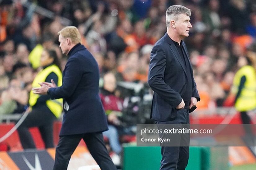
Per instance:
[[[188,53],[185,43],[185,57]],[[189,60],[189,59],[188,59]],[[192,77],[192,97],[200,100],[193,70],[189,62]],[[149,64],[148,84],[153,89],[151,117],[155,121],[171,121],[177,117],[176,107],[181,103],[186,89],[186,70],[173,41],[167,33],[154,45]],[[195,108],[190,109],[190,112]]]

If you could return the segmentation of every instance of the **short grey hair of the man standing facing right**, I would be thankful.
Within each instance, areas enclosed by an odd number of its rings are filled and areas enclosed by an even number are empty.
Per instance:
[[[165,12],[166,27],[170,27],[171,20],[177,21],[179,14],[191,15],[191,10],[182,5],[172,5]]]

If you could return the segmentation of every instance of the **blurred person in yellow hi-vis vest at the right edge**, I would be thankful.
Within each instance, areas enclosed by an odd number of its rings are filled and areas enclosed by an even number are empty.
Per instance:
[[[256,43],[247,48],[246,64],[235,74],[231,93],[235,95],[235,108],[240,112],[243,124],[250,124],[251,119],[248,112],[256,108]],[[248,125],[244,125],[247,137],[252,138],[252,130]],[[253,138],[252,138],[253,139]],[[253,140],[250,140],[254,142]],[[249,146],[253,143],[248,143]],[[254,146],[254,145],[253,145]]]

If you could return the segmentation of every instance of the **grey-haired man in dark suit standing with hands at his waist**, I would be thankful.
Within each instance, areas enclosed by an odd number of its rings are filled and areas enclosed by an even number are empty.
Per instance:
[[[151,51],[148,83],[154,91],[151,117],[156,124],[189,124],[189,113],[200,100],[182,41],[192,27],[190,15],[185,6],[170,6],[166,11],[167,32]],[[189,146],[162,146],[161,154],[161,170],[182,170],[188,163]]]

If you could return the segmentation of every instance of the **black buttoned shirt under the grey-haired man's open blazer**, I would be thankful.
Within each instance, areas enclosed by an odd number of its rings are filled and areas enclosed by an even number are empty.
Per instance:
[[[180,44],[182,44],[182,40],[180,42]],[[192,74],[191,74],[191,69],[190,69],[190,64],[189,64],[189,60],[188,57],[186,57],[185,54],[185,49],[179,45],[179,43],[177,43],[176,41],[173,41],[178,53],[180,54],[180,57],[182,58],[182,62],[183,65],[185,66],[185,70],[186,70],[186,75],[187,75],[187,79],[185,82],[185,86],[186,86],[186,90],[182,96],[182,99],[185,102],[185,108],[189,107],[189,103],[192,97]]]

